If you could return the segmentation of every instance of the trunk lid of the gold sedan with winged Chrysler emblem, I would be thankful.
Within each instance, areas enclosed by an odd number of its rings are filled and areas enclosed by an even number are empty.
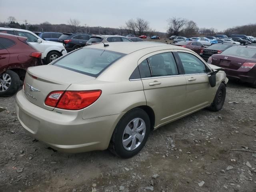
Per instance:
[[[70,84],[94,79],[95,77],[53,65],[31,67],[26,73],[23,94],[33,104],[53,110],[53,107],[44,103],[50,92],[64,91]]]

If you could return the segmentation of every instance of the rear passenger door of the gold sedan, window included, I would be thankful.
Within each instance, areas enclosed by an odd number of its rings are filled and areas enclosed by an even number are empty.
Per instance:
[[[158,51],[142,57],[139,70],[147,105],[156,114],[156,125],[169,122],[184,111],[186,79],[172,52]]]

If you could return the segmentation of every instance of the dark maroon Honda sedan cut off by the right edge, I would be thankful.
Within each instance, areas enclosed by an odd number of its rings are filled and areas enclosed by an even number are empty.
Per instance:
[[[248,82],[256,88],[256,47],[234,46],[214,54],[208,63],[224,68],[227,76]]]

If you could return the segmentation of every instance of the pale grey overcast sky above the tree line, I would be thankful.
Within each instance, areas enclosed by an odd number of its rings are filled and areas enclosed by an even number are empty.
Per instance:
[[[166,20],[176,16],[220,31],[256,23],[256,0],[0,0],[0,21],[8,16],[31,24],[67,24],[76,18],[80,25],[113,28],[140,17],[160,32],[166,32]]]

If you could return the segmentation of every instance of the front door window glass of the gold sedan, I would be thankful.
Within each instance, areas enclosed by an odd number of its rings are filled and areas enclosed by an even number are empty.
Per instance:
[[[206,73],[204,63],[196,56],[184,52],[178,52],[178,55],[180,56],[185,74]]]

